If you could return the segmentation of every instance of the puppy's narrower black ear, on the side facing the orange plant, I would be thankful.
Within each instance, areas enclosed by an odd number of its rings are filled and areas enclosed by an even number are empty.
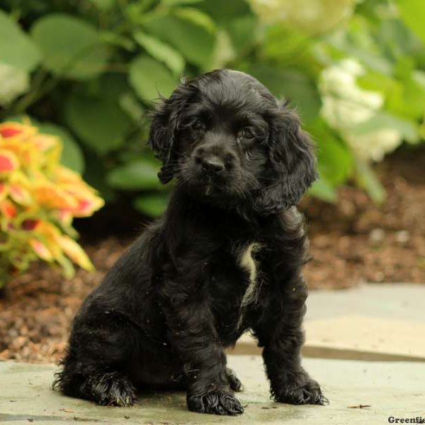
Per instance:
[[[149,130],[149,145],[157,158],[162,161],[158,173],[161,183],[173,179],[178,161],[176,132],[179,130],[181,111],[193,94],[191,84],[184,81],[169,98],[162,98],[152,112],[152,124]]]

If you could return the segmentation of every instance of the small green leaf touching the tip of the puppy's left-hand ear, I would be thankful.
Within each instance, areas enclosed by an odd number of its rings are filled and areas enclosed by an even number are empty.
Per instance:
[[[139,158],[110,171],[107,181],[113,188],[126,191],[157,189],[158,170],[159,166],[149,159]]]

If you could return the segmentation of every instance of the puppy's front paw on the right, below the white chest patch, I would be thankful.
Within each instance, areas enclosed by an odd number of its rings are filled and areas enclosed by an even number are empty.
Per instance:
[[[324,397],[320,385],[308,375],[297,377],[285,385],[279,385],[272,389],[273,398],[276,402],[289,404],[328,404],[329,400]]]

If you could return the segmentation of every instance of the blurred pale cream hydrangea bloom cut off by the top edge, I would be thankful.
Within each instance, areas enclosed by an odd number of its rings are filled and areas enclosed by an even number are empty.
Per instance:
[[[310,33],[324,33],[344,23],[357,0],[249,0],[264,23],[287,23]]]

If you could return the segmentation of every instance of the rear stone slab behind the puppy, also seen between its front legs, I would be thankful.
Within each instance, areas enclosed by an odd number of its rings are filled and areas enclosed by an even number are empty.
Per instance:
[[[314,290],[307,299],[303,355],[366,361],[425,361],[425,285],[368,284]],[[242,336],[233,353],[259,354]]]

